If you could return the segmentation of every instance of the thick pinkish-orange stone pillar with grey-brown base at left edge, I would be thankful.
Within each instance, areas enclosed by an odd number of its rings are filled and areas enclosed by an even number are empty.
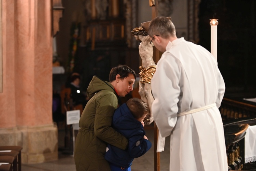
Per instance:
[[[2,0],[0,145],[23,146],[23,163],[58,159],[51,10],[51,0]]]

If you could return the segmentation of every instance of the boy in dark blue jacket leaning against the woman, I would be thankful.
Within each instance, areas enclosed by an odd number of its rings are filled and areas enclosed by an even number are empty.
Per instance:
[[[152,146],[145,136],[143,120],[149,114],[147,103],[139,98],[130,98],[115,110],[112,127],[129,140],[128,149],[122,150],[108,144],[105,159],[112,171],[130,171],[134,158],[145,154]]]

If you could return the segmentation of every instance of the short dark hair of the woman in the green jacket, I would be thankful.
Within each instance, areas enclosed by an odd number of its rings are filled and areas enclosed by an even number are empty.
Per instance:
[[[136,79],[136,73],[130,67],[126,65],[118,65],[117,67],[111,69],[109,73],[109,82],[115,81],[117,74],[120,75],[121,80],[129,76],[129,74],[132,74],[134,79]]]

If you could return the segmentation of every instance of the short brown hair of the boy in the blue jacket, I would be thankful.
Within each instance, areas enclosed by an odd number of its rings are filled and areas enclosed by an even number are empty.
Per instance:
[[[147,103],[139,98],[130,98],[126,105],[128,106],[129,110],[131,111],[134,118],[139,119],[145,115],[145,113],[149,113],[149,108]]]

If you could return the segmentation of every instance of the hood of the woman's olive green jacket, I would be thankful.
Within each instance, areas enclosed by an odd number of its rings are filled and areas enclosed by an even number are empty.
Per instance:
[[[117,96],[117,98],[119,98],[118,95],[116,94],[115,89],[112,84],[110,84],[107,81],[101,80],[97,76],[93,76],[93,79],[90,81],[90,84],[87,88],[87,96],[89,98],[92,98],[95,95],[95,93],[97,93],[101,90],[112,91]]]

